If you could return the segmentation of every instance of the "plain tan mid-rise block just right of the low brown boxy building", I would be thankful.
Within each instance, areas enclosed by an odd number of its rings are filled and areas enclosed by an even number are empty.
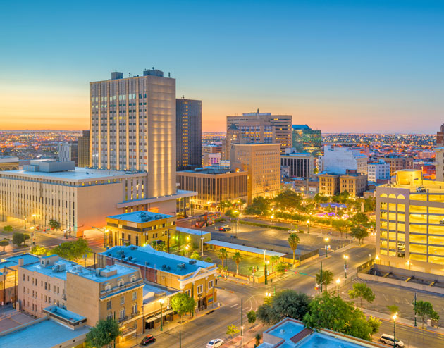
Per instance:
[[[233,144],[230,168],[247,172],[247,203],[280,192],[280,144]]]

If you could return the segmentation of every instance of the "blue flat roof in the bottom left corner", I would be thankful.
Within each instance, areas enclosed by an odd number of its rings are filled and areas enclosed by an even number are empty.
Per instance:
[[[20,327],[19,327],[20,328]],[[67,328],[56,321],[44,320],[23,329],[0,336],[0,347],[8,348],[51,348],[63,342],[78,340],[79,336],[90,331],[90,326],[84,325],[76,330]]]

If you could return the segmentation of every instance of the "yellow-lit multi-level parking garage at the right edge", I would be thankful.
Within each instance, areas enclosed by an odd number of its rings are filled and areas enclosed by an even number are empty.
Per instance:
[[[444,266],[444,182],[421,170],[400,170],[376,187],[376,254],[381,264],[441,274]]]

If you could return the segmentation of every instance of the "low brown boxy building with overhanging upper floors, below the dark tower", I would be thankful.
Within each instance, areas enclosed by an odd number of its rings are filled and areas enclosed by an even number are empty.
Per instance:
[[[229,168],[197,168],[177,173],[180,189],[198,192],[194,204],[209,209],[220,201],[247,200],[247,172]]]

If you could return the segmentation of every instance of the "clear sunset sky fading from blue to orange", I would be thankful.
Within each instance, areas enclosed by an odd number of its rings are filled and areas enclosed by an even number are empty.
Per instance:
[[[0,129],[89,128],[89,82],[158,68],[226,116],[323,132],[433,133],[444,122],[444,1],[8,1]]]

